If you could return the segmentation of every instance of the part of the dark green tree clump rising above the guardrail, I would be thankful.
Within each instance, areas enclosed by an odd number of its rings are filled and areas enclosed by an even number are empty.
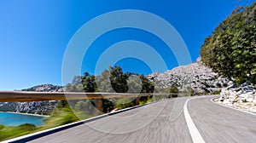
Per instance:
[[[120,66],[110,66],[109,70],[100,76],[84,72],[84,76],[73,78],[73,83],[68,83],[67,91],[73,92],[104,92],[104,93],[152,93],[154,84],[149,82],[144,75],[123,72]]]

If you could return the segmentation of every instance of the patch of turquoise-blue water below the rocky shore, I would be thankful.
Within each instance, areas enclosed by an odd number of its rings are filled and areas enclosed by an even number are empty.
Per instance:
[[[0,124],[3,124],[4,126],[18,126],[24,123],[40,126],[44,124],[45,118],[46,117],[0,112]]]

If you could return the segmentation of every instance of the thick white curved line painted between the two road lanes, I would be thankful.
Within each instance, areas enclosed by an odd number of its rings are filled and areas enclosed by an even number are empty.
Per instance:
[[[194,143],[205,143],[205,140],[201,137],[201,134],[199,133],[198,129],[196,129],[196,127],[195,127],[195,123],[193,122],[192,118],[189,115],[188,102],[189,102],[189,100],[186,101],[186,103],[183,107],[183,112],[184,112],[184,116],[186,119],[186,123],[189,128],[189,133],[191,135],[191,138]]]

